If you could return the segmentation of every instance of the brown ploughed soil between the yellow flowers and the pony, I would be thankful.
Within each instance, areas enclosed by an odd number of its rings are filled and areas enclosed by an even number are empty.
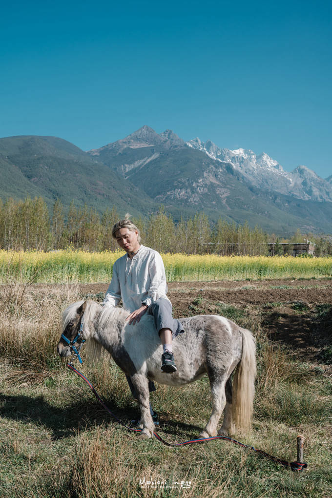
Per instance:
[[[105,283],[80,285],[82,297],[101,299],[107,289]],[[271,340],[310,362],[332,363],[332,279],[171,282],[168,289],[177,318],[221,314],[223,305],[258,311]]]

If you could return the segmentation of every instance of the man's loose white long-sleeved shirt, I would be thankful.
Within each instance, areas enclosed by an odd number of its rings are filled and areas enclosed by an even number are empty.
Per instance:
[[[123,308],[132,312],[142,303],[150,306],[159,297],[168,299],[167,290],[161,255],[156,250],[140,246],[132,259],[124,254],[115,261],[104,305],[116,306],[122,299]]]

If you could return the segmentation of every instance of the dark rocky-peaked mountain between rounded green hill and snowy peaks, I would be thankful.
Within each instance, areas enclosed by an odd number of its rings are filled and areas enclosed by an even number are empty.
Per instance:
[[[105,146],[107,153],[103,153],[105,147],[99,149],[99,158],[125,179],[140,185],[150,198],[163,203],[168,210],[174,206],[181,210],[189,206],[192,210],[204,210],[212,215],[216,210],[222,216],[233,217],[235,221],[250,219],[251,224],[256,218],[259,220],[257,223],[264,228],[278,225],[279,231],[281,226],[293,224],[300,224],[305,230],[309,230],[309,227],[310,230],[315,230],[318,219],[315,214],[307,212],[305,201],[269,190],[268,182],[264,189],[261,184],[254,185],[248,181],[243,171],[232,164],[229,157],[217,160],[211,157],[211,149],[210,154],[207,154],[204,148],[199,150],[183,142],[177,142],[173,148],[163,147],[160,141],[162,134],[157,134],[151,128],[148,130],[150,136],[152,133],[152,140],[148,141],[144,136],[144,147],[137,148],[132,139],[139,137],[141,130],[142,128],[118,141],[121,143],[120,153],[117,153],[118,143],[113,142]],[[169,134],[167,131],[167,135]],[[210,147],[217,149],[211,141]],[[233,156],[240,155],[243,150],[234,151]],[[253,154],[252,151],[249,152]],[[282,166],[276,161],[271,162],[267,154],[261,154],[260,158],[270,168],[283,171]],[[292,206],[291,209],[297,212],[287,213],[288,206]],[[312,208],[314,206],[316,212],[327,209],[332,214],[332,203],[318,209],[319,203],[314,202]],[[301,209],[306,212],[305,222],[299,221]],[[288,221],[280,221],[286,213]],[[323,214],[322,219],[325,229],[328,226],[330,228],[327,217]]]

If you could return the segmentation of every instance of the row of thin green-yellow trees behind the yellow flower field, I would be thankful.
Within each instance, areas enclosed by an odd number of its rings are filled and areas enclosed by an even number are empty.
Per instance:
[[[4,203],[0,199],[0,249],[115,250],[117,243],[111,231],[122,217],[114,207],[100,215],[94,208],[76,207],[72,202],[65,212],[62,203],[56,200],[50,214],[41,197],[27,197],[24,201],[8,199]],[[229,223],[220,218],[211,225],[205,213],[175,223],[163,206],[148,218],[131,220],[140,230],[142,243],[159,252],[266,255],[268,242],[281,242],[274,234],[268,236],[260,227],[252,229],[247,223]],[[298,230],[294,240],[282,242],[302,242],[303,238]],[[332,253],[329,239],[316,240],[317,255]]]

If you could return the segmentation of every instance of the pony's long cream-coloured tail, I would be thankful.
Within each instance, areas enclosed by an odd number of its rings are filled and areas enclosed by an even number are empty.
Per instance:
[[[256,341],[241,329],[242,356],[233,379],[232,419],[239,431],[250,430],[256,378]]]

